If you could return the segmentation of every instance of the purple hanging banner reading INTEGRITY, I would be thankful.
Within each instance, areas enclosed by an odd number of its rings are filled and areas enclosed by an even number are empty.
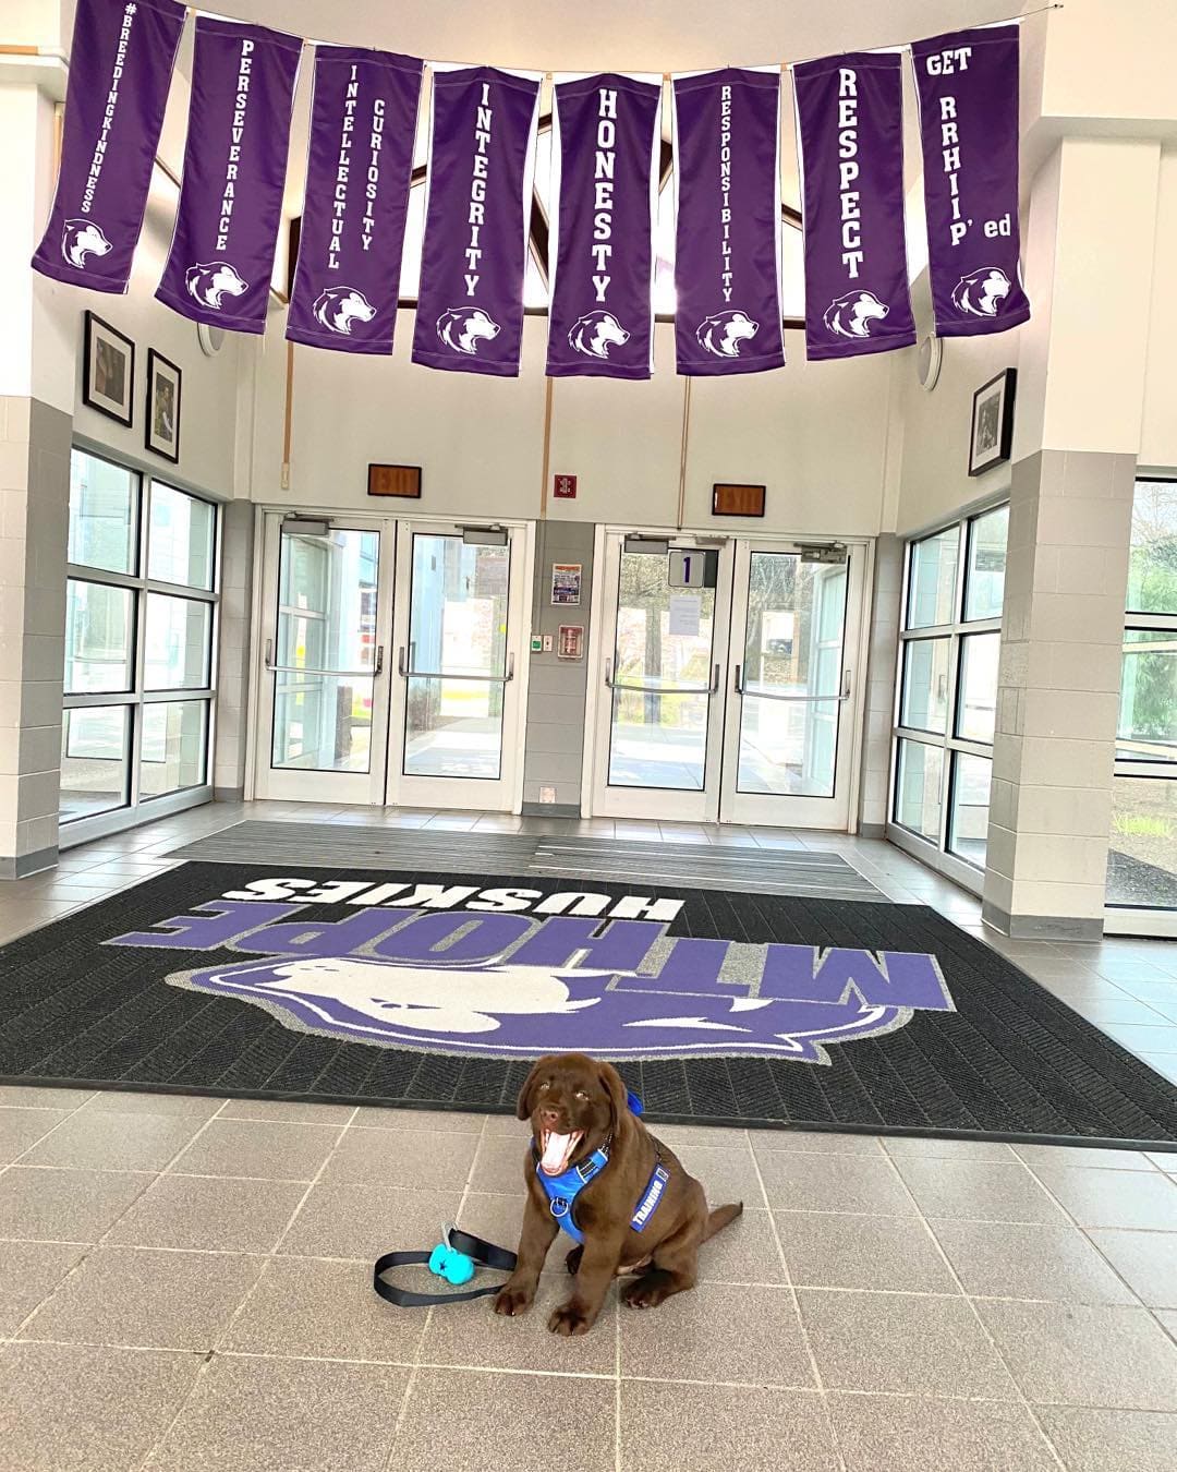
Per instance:
[[[538,102],[538,81],[493,66],[433,74],[415,364],[519,372]]]

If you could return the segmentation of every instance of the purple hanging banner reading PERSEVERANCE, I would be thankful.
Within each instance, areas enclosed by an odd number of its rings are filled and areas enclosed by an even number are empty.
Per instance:
[[[294,35],[197,18],[184,181],[156,291],[181,316],[265,331],[300,52]]]

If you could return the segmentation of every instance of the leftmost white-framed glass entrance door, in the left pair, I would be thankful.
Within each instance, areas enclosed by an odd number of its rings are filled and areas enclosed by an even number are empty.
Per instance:
[[[393,531],[265,518],[259,798],[383,802]]]

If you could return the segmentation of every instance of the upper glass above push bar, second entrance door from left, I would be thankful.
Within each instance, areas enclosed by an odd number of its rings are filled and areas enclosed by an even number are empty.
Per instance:
[[[409,668],[503,676],[511,548],[413,536]]]

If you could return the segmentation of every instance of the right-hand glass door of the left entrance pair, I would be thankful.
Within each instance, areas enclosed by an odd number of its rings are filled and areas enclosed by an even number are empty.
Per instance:
[[[402,524],[390,802],[516,807],[524,543],[519,528]]]

